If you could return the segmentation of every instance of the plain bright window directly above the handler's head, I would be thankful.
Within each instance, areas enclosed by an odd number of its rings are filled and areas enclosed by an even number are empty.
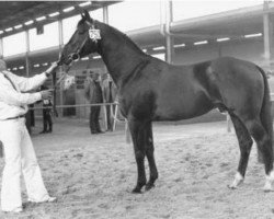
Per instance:
[[[3,37],[3,56],[12,56],[26,51],[25,32]]]

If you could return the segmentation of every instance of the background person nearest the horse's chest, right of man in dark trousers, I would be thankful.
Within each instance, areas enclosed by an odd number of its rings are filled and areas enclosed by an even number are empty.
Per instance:
[[[104,103],[114,103],[116,99],[117,89],[114,84],[110,73],[106,73],[106,78],[102,83]],[[107,130],[113,130],[113,105],[106,105],[106,119],[107,119]]]

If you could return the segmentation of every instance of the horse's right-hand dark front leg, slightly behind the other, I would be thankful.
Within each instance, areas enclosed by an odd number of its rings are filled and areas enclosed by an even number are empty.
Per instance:
[[[153,134],[152,134],[151,123],[149,123],[146,126],[146,143],[147,143],[146,155],[148,159],[149,171],[150,171],[150,177],[146,185],[146,191],[149,191],[155,186],[155,182],[158,178],[158,171],[155,162],[155,146],[153,146]]]

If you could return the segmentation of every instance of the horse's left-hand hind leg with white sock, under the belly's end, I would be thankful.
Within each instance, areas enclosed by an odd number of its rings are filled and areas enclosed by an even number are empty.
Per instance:
[[[237,174],[231,185],[229,185],[229,188],[237,188],[237,186],[243,182],[253,141],[243,123],[233,114],[230,114],[230,117],[235,126],[241,152]]]

